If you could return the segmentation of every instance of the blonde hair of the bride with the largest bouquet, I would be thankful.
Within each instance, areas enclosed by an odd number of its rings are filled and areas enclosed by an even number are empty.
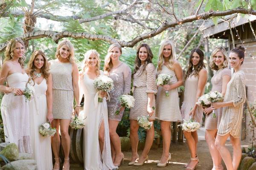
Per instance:
[[[82,65],[82,76],[84,76],[85,74],[85,70],[86,68],[88,68],[88,62],[87,59],[90,57],[91,54],[94,54],[96,59],[97,59],[97,65],[96,65],[96,74],[97,76],[99,76],[100,72],[99,72],[99,67],[100,67],[100,59],[99,59],[99,53],[96,50],[88,50],[85,54],[84,54],[84,60],[83,60],[83,65]]]

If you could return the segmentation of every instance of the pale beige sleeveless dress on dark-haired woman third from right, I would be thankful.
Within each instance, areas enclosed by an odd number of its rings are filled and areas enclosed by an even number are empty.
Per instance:
[[[180,109],[181,117],[186,121],[189,121],[189,119],[191,118],[191,116],[189,116],[189,112],[192,110],[192,108],[195,106],[195,103],[197,102],[197,99],[196,99],[197,88],[198,88],[198,76],[193,75],[193,72],[192,72],[185,81],[184,101]],[[205,90],[205,87],[200,96],[204,94],[204,90]],[[203,109],[198,106],[195,111],[194,120],[195,122],[201,123],[202,119],[203,119]]]

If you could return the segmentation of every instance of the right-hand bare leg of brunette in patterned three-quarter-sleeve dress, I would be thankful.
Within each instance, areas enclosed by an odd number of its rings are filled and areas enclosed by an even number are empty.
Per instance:
[[[149,120],[149,121],[154,122],[153,120]],[[153,141],[154,141],[154,123],[153,123],[152,127],[149,130],[147,130],[145,146],[144,146],[144,149],[143,149],[141,156],[138,160],[139,164],[143,163],[144,159],[147,157],[148,152],[153,144]]]

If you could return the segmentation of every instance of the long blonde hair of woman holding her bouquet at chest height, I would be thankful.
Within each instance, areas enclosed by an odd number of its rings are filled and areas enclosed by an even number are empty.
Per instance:
[[[175,56],[176,56],[174,43],[171,40],[166,40],[161,44],[160,49],[159,49],[158,64],[157,64],[157,71],[158,72],[160,72],[162,70],[162,66],[163,66],[163,63],[164,63],[163,48],[166,45],[171,45],[171,47],[172,47],[172,53],[169,56],[169,59],[168,59],[169,64],[167,65],[167,68],[169,68],[170,70],[173,70],[172,65],[173,65],[173,62],[174,62],[174,59],[175,59]]]

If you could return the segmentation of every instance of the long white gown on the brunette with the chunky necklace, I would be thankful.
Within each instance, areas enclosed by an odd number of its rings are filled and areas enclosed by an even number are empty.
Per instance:
[[[35,97],[29,102],[30,133],[32,139],[32,159],[36,160],[38,170],[52,170],[51,136],[42,136],[39,126],[47,122],[47,83],[46,79],[38,85],[32,81]]]

